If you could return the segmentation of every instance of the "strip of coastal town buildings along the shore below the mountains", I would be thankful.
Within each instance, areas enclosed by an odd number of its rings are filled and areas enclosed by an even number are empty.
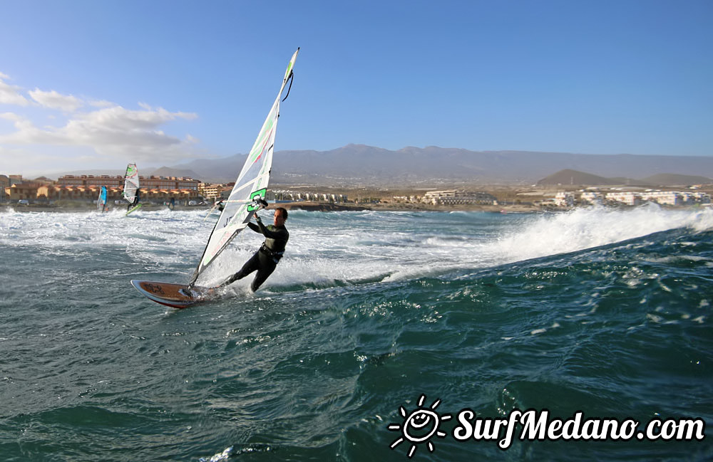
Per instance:
[[[180,208],[210,207],[227,199],[234,184],[210,184],[189,177],[140,177],[143,210],[163,209],[168,201]],[[106,187],[108,203],[121,200],[123,177],[63,175],[57,180],[0,174],[0,207],[15,211],[88,211]],[[419,184],[418,187],[326,187],[276,184],[268,201],[287,209],[317,211],[383,209],[395,211],[563,211],[577,206],[710,206],[713,184],[677,187],[578,185]]]

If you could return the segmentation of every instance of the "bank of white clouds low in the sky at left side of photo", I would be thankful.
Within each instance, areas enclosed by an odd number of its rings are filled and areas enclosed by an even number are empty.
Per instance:
[[[13,163],[25,164],[25,169],[50,169],[51,164],[81,166],[86,162],[81,158],[87,156],[95,164],[127,159],[163,163],[195,157],[196,149],[200,149],[200,140],[188,134],[172,134],[165,128],[173,121],[194,120],[198,115],[193,112],[171,112],[145,103],[138,103],[138,109],[132,110],[101,98],[76,98],[39,88],[27,92],[31,98],[25,98],[21,88],[4,82],[8,79],[0,73],[0,104],[26,109],[0,112],[4,168]],[[11,153],[18,152],[23,155],[10,162],[9,157],[14,157]],[[35,166],[36,162],[42,165]]]

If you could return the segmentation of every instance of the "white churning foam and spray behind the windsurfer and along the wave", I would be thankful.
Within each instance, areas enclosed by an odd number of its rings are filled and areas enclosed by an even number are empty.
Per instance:
[[[198,264],[215,218],[205,210],[108,214],[0,214],[0,246],[31,246],[48,253],[123,251],[146,271],[186,278]],[[265,214],[263,212],[263,214]],[[267,222],[267,214],[263,216]],[[304,212],[289,214],[290,240],[270,285],[351,284],[484,268],[557,253],[580,251],[650,233],[713,229],[713,210],[575,209],[567,213],[506,216],[398,212]],[[262,242],[246,230],[202,275],[222,282],[240,269]],[[692,243],[693,245],[694,243]],[[637,244],[638,245],[638,244]],[[137,275],[137,278],[141,278]],[[177,277],[177,282],[180,280]],[[237,288],[249,281],[236,283]],[[630,283],[637,283],[632,274]]]

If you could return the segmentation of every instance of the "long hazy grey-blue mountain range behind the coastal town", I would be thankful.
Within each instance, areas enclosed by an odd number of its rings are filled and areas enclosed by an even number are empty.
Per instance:
[[[225,183],[235,181],[246,157],[247,154],[235,154],[171,167],[139,166],[139,169],[142,175],[183,176]],[[329,151],[275,152],[271,183],[341,187],[534,184],[565,169],[590,172],[605,179],[679,174],[707,180],[700,183],[713,183],[713,156],[469,151],[443,147],[404,147],[392,151],[366,145],[347,145]]]

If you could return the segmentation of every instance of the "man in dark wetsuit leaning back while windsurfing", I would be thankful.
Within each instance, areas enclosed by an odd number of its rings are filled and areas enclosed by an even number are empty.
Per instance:
[[[289,233],[284,227],[284,221],[287,220],[287,210],[277,207],[275,209],[275,219],[271,225],[265,226],[262,224],[262,220],[257,214],[255,214],[255,220],[257,220],[257,224],[248,223],[247,226],[250,226],[252,231],[262,233],[265,236],[265,242],[260,246],[260,250],[255,252],[255,255],[240,268],[240,271],[227,278],[218,287],[225,287],[225,285],[234,283],[238,279],[245,278],[253,271],[257,271],[255,279],[250,284],[250,288],[255,292],[267,277],[272,274],[272,271],[277,268],[277,262],[282,258],[284,247],[287,246],[287,239],[289,239]]]

